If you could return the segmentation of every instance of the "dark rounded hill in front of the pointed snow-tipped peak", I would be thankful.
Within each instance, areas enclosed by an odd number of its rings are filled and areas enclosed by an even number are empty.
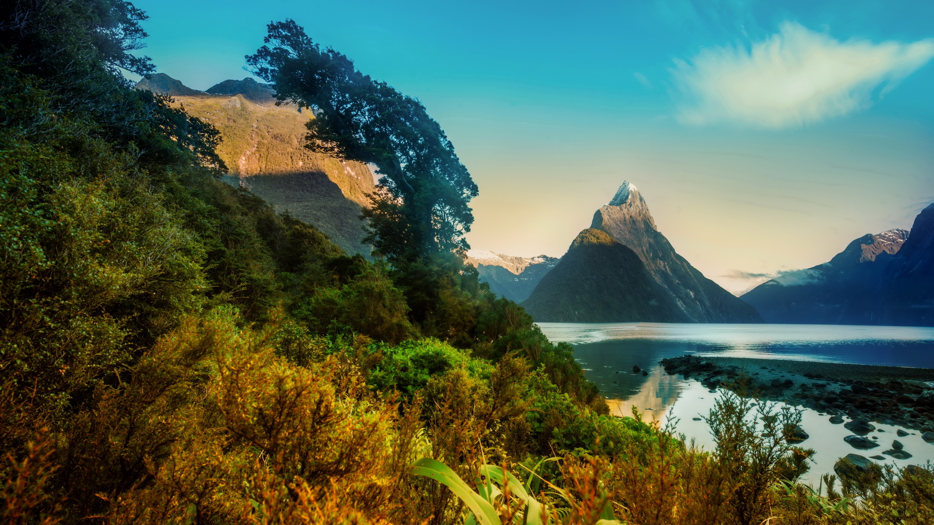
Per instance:
[[[537,322],[680,322],[670,294],[630,248],[588,228],[522,306]]]

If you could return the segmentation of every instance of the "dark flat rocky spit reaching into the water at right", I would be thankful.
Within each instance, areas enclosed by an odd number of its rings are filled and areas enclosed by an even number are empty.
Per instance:
[[[847,416],[914,429],[934,441],[934,369],[689,355],[659,363],[711,390],[738,390],[744,375],[747,393],[761,399],[812,408],[832,423]]]

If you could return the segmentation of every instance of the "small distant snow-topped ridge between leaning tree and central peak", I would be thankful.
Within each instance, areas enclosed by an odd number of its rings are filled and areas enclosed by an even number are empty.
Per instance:
[[[489,283],[489,290],[517,303],[525,301],[542,277],[558,264],[557,257],[516,257],[472,249],[467,262],[476,266],[480,280]]]

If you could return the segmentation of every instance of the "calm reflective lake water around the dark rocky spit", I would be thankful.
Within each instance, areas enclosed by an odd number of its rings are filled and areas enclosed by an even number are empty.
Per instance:
[[[670,323],[539,323],[555,343],[574,347],[574,357],[587,378],[597,383],[611,409],[620,416],[636,406],[647,419],[676,419],[677,430],[704,447],[713,440],[704,421],[716,394],[694,380],[668,376],[658,365],[666,357],[694,354],[792,361],[849,362],[934,368],[934,328],[813,324],[670,324]],[[648,376],[633,374],[637,365]],[[808,480],[832,472],[834,461],[851,452],[872,456],[889,448],[896,427],[879,425],[872,433],[880,447],[856,450],[842,438],[850,433],[828,416],[802,409],[802,427],[811,439],[802,446],[817,451]],[[899,466],[934,461],[934,445],[918,433],[899,438],[914,455],[885,460]]]

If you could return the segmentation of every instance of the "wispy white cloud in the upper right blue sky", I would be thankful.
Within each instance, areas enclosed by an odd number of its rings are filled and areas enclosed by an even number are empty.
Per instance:
[[[934,57],[934,39],[912,43],[845,42],[796,22],[744,46],[701,50],[676,60],[675,84],[686,96],[678,120],[767,128],[800,126],[870,106]]]

